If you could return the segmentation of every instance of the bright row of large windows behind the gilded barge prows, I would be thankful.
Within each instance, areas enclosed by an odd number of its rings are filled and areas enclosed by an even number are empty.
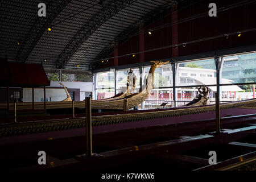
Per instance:
[[[230,102],[246,100],[253,97],[256,98],[255,93],[253,96],[253,84],[256,82],[256,53],[224,56],[222,63],[222,72],[220,73],[220,101]],[[132,69],[136,77],[136,93],[140,89],[140,77],[142,77],[143,85],[143,80],[148,76],[150,67],[142,67],[141,69],[141,75],[139,68]],[[96,93],[98,99],[114,96],[114,90],[116,90],[116,93],[121,92],[122,89],[126,90],[128,72],[129,69],[122,69],[114,72],[97,73]],[[114,78],[116,82],[114,82]],[[196,97],[200,85],[207,85],[209,87],[209,104],[214,104],[214,96],[217,92],[216,65],[214,59],[176,63],[175,82],[176,98],[173,97],[171,64],[165,64],[160,68],[156,68],[154,73],[154,89],[139,108],[160,108],[163,102],[168,103],[165,107],[171,107],[174,106],[174,99],[177,101],[178,106],[187,104]],[[154,108],[151,106],[154,106]]]

